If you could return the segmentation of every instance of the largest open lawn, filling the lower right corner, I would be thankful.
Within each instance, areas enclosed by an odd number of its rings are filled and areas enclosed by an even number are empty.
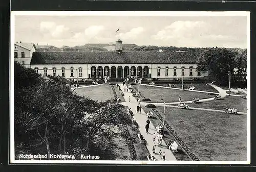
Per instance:
[[[163,107],[156,108],[163,114]],[[246,160],[246,115],[166,107],[165,120],[200,160]]]

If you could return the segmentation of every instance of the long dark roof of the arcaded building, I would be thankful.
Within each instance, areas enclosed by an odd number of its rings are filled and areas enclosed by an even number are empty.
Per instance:
[[[34,52],[31,64],[113,64],[113,63],[183,63],[194,64],[200,52]]]

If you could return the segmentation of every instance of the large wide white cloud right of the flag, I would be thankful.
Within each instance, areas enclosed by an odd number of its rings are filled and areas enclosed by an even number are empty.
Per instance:
[[[229,35],[212,30],[211,24],[205,21],[175,21],[151,38],[174,46],[215,46],[221,44],[221,41],[234,40]]]

